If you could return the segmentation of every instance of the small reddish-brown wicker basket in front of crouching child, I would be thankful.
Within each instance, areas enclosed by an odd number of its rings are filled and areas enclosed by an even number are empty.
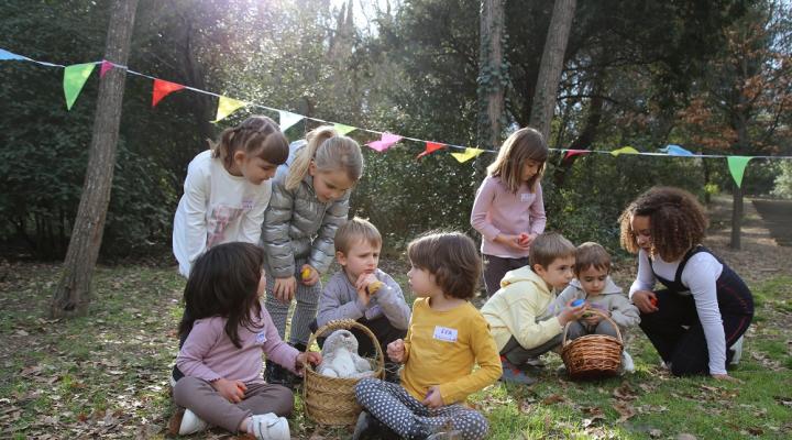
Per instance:
[[[571,322],[566,322],[561,341],[561,359],[566,372],[573,380],[591,380],[618,375],[622,366],[624,342],[618,324],[597,309],[588,309],[608,320],[616,329],[614,338],[607,334],[586,334],[568,341],[566,332]]]

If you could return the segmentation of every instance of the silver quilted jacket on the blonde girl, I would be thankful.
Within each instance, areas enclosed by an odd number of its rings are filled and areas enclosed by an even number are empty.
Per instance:
[[[264,213],[261,246],[266,252],[264,270],[267,276],[287,278],[299,276],[295,260],[307,260],[320,273],[327,272],[336,255],[336,230],[346,222],[351,190],[336,201],[322,204],[314,191],[314,177],[302,178],[294,190],[286,189],[286,176],[295,153],[305,140],[289,145],[289,158],[277,169],[273,179],[272,198]]]

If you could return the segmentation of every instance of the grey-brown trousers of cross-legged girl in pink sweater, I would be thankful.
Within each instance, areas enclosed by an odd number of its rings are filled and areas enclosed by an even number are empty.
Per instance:
[[[237,432],[245,418],[267,413],[288,416],[294,408],[292,391],[280,385],[265,383],[245,384],[244,399],[232,404],[221,396],[211,384],[198,377],[182,377],[174,386],[176,405],[195,413],[209,425]]]

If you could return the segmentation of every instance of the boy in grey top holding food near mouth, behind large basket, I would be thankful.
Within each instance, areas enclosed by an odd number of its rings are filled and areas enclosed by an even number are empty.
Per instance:
[[[377,268],[382,235],[371,222],[353,218],[336,232],[336,260],[341,271],[333,275],[319,297],[319,314],[314,331],[334,319],[354,319],[374,333],[383,353],[387,344],[407,334],[410,308],[402,287],[391,275]],[[358,352],[374,358],[371,338],[352,328]],[[320,345],[323,338],[318,340]],[[385,362],[386,380],[398,382],[398,364]]]

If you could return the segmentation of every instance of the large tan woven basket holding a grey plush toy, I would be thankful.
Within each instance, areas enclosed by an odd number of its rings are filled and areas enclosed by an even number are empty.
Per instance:
[[[371,338],[376,349],[376,359],[369,359],[374,370],[374,374],[371,377],[382,378],[385,358],[380,348],[380,342],[371,330],[354,320],[339,319],[328,322],[310,336],[308,346],[310,348],[314,344],[316,338],[326,333],[330,334],[339,329],[351,330],[352,328],[362,330]],[[309,363],[304,363],[304,369],[305,383],[302,385],[302,403],[308,418],[320,425],[354,425],[358,416],[363,410],[363,408],[358,405],[358,399],[354,394],[354,387],[360,378],[323,376],[314,371],[314,367]]]

